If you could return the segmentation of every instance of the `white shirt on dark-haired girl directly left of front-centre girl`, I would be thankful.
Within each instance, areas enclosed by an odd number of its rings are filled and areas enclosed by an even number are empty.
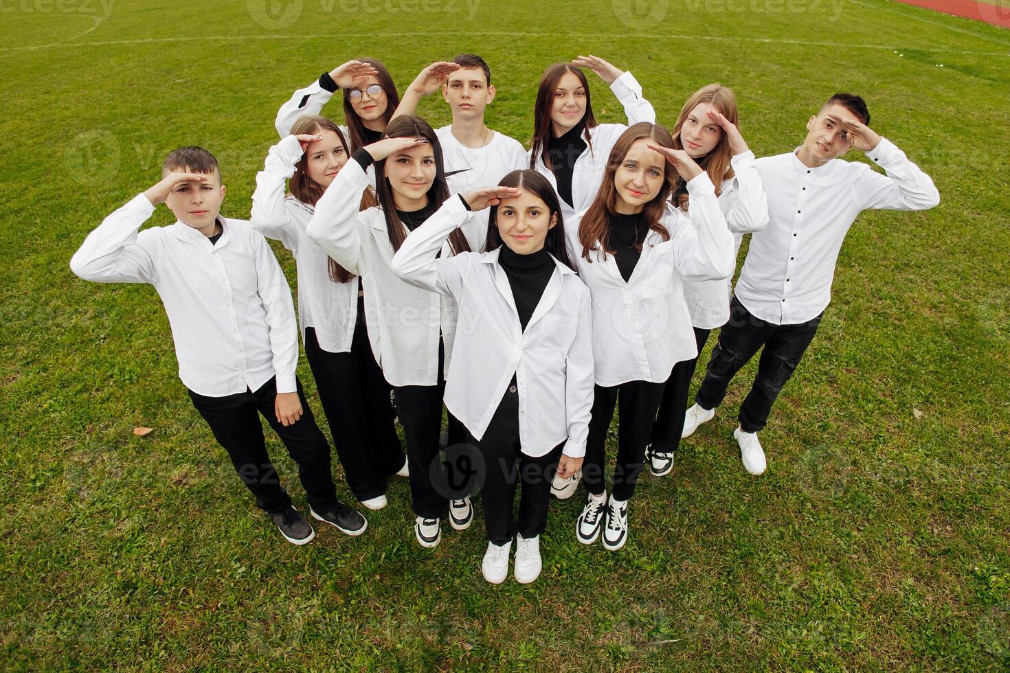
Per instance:
[[[316,203],[306,230],[338,264],[360,275],[365,290],[365,322],[372,352],[391,385],[438,383],[438,335],[444,340],[445,371],[452,355],[457,306],[448,297],[404,283],[390,269],[393,245],[382,210],[360,212],[368,186],[362,165],[351,158]],[[403,225],[407,231],[406,225]],[[470,214],[464,223],[471,249],[481,235]],[[448,242],[442,256],[451,254]]]

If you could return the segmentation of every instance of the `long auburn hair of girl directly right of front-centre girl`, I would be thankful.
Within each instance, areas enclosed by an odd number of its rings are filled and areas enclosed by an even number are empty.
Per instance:
[[[582,244],[582,256],[592,262],[590,251],[597,249],[597,256],[603,260],[607,254],[614,254],[610,249],[608,238],[610,235],[610,223],[617,215],[617,187],[614,185],[614,175],[618,166],[624,161],[628,150],[636,140],[648,138],[658,145],[673,147],[674,139],[666,126],[660,124],[649,124],[647,121],[638,122],[630,126],[617,138],[614,148],[610,150],[610,157],[607,159],[607,166],[603,171],[603,182],[600,184],[600,191],[596,193],[596,199],[586,211],[579,223],[579,242]],[[674,189],[674,176],[677,172],[671,165],[664,165],[663,187],[660,192],[652,197],[651,201],[645,204],[641,211],[642,221],[648,224],[648,228],[663,236],[663,240],[670,240],[670,232],[660,223],[664,212],[667,210],[667,199]]]

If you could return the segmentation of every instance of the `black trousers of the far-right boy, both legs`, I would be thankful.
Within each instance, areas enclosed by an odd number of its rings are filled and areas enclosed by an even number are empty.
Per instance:
[[[772,405],[803,359],[823,316],[821,312],[805,323],[776,325],[753,316],[734,297],[729,305],[729,322],[722,327],[719,341],[712,349],[705,380],[695,402],[704,409],[718,407],[733,375],[764,346],[758,375],[738,415],[743,432],[762,430],[768,424]]]

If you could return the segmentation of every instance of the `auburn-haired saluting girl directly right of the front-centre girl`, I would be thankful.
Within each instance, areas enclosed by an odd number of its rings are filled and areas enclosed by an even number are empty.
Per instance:
[[[669,165],[668,165],[669,163]],[[694,200],[693,218],[669,205],[677,177]],[[685,279],[725,281],[733,238],[708,175],[659,124],[634,124],[614,143],[596,199],[567,229],[579,275],[593,304],[593,400],[583,483],[586,506],[576,524],[583,544],[627,541],[645,444],[674,365],[697,355],[684,301]],[[617,463],[609,501],[604,443],[620,399]]]

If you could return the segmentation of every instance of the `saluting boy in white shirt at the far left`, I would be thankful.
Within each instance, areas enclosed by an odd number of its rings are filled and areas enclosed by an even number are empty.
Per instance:
[[[162,181],[106,217],[71,269],[95,283],[155,286],[194,407],[288,542],[304,545],[315,531],[281,487],[259,414],[298,463],[312,517],[361,535],[368,522],[336,498],[329,445],[295,375],[298,328],[288,282],[263,234],[219,215],[225,191],[213,154],[173,151]],[[176,223],[137,233],[160,203]]]

